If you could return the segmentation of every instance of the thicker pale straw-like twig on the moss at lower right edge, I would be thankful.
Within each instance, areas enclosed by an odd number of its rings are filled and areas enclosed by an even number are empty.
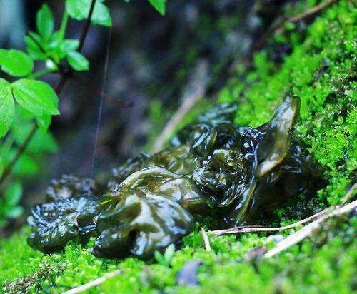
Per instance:
[[[308,236],[312,235],[316,230],[321,228],[323,222],[325,222],[328,218],[332,218],[333,216],[341,216],[341,214],[348,213],[352,209],[357,207],[357,200],[351,203],[346,204],[345,206],[337,206],[334,211],[328,213],[327,215],[321,216],[317,220],[314,220],[312,223],[309,223],[305,227],[298,230],[296,233],[289,235],[287,238],[281,240],[276,246],[265,253],[263,256],[265,258],[271,258],[272,256],[281,253],[281,251],[290,248],[293,245],[301,242],[301,240],[307,238]]]

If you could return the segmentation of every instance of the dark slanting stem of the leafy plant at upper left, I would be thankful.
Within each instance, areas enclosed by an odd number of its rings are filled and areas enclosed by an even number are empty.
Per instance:
[[[84,26],[82,26],[81,38],[79,41],[78,51],[81,51],[81,49],[84,45],[84,41],[86,40],[86,36],[87,36],[88,30],[89,30],[89,24],[91,23],[91,16],[93,14],[94,4],[96,4],[96,0],[91,1],[91,9],[89,9],[89,14],[88,14],[88,17],[86,18],[86,22],[84,23]],[[62,74],[61,78],[59,79],[59,82],[57,83],[56,88],[55,88],[57,95],[59,95],[59,93],[61,93],[67,80],[68,80],[68,75]],[[30,133],[27,135],[24,143],[22,143],[21,146],[19,146],[19,148],[17,149],[14,158],[8,163],[7,166],[5,166],[4,173],[2,174],[2,176],[0,178],[0,185],[1,185],[1,183],[4,183],[5,179],[9,176],[9,174],[11,173],[12,169],[14,168],[16,162],[21,157],[22,153],[24,153],[26,151],[27,146],[29,146],[29,143],[31,142],[32,138],[34,138],[34,134],[36,133],[37,128],[38,128],[37,123],[35,123],[33,128],[31,129]]]

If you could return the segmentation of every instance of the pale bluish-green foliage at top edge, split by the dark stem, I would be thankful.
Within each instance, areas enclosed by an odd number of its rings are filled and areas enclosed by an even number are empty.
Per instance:
[[[103,4],[104,0],[97,0],[94,6],[91,22],[100,26],[111,26],[109,9]],[[88,17],[91,0],[66,0],[66,10],[74,19],[82,21]]]

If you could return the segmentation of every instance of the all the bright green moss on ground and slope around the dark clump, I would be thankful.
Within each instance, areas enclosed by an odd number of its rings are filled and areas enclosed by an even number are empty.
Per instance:
[[[286,91],[301,97],[295,135],[323,169],[326,188],[315,196],[319,208],[341,203],[356,182],[356,19],[353,1],[339,1],[303,32],[287,24],[273,42],[291,44],[291,54],[274,63],[268,49],[259,52],[254,68],[238,67],[219,95],[221,101],[238,101],[236,123],[251,126],[268,121]],[[293,221],[285,211],[276,214],[281,224]],[[95,258],[91,244],[70,243],[63,253],[44,255],[26,244],[29,228],[24,228],[0,242],[0,285],[15,280],[8,292],[58,293],[120,268],[121,275],[89,293],[352,293],[357,288],[356,226],[356,217],[330,221],[316,237],[274,258],[249,262],[244,255],[251,249],[273,246],[266,235],[210,236],[212,251],[207,252],[197,224],[170,268],[154,260]],[[176,282],[188,260],[203,262],[200,286]]]

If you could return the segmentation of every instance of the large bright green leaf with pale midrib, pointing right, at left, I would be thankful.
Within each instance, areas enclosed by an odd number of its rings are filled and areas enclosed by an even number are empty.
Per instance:
[[[59,114],[58,97],[48,83],[23,78],[14,82],[12,88],[16,101],[35,116]]]

